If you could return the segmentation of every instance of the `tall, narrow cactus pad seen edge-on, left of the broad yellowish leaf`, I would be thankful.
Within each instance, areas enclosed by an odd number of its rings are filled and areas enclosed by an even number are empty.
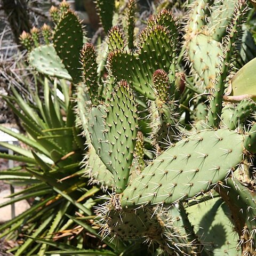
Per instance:
[[[235,51],[235,43],[239,38],[239,31],[241,31],[244,14],[247,11],[247,4],[245,0],[239,0],[235,6],[234,17],[231,22],[231,26],[228,28],[229,33],[226,37],[226,42],[223,47],[225,49],[223,55],[223,64],[220,69],[220,75],[218,77],[218,82],[214,86],[210,101],[210,110],[207,123],[211,127],[218,127],[221,119],[222,101],[223,94],[225,91],[226,78],[230,71],[230,62],[233,58],[233,53]]]

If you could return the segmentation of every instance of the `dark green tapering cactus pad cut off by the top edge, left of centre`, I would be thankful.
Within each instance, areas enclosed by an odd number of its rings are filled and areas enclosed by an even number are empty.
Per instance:
[[[101,25],[107,34],[108,30],[113,25],[112,21],[115,11],[115,0],[96,0],[95,2],[97,5]]]

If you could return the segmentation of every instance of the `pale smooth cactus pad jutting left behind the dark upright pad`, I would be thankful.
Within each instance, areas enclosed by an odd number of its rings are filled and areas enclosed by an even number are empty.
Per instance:
[[[36,47],[29,53],[28,59],[30,65],[44,75],[72,80],[53,45]]]

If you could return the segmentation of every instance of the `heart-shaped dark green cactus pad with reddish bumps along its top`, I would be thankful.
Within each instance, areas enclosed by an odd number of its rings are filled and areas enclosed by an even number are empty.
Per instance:
[[[122,50],[111,52],[109,69],[118,81],[125,79],[136,91],[154,100],[153,73],[159,68],[168,72],[174,62],[172,31],[164,26],[146,28],[141,33],[139,47],[136,54]]]

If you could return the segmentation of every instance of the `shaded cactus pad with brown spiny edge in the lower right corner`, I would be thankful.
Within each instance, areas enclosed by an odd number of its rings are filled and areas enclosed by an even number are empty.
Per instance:
[[[242,255],[255,255],[256,198],[255,193],[243,186],[236,178],[229,179],[218,193],[229,206],[235,229],[239,235]]]

